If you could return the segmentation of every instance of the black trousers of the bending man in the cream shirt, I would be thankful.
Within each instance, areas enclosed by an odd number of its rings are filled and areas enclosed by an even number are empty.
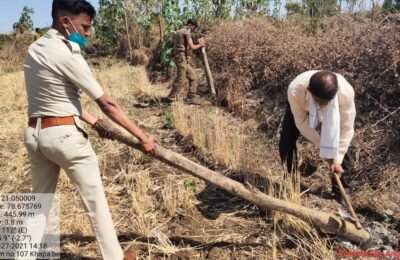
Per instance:
[[[290,106],[288,104],[285,116],[283,118],[281,138],[279,140],[279,154],[281,156],[282,163],[286,162],[288,172],[293,172],[297,168],[296,141],[299,137],[299,134],[300,132],[294,122],[292,110],[290,110]],[[340,178],[344,188],[350,188],[350,163],[351,158],[349,156],[349,153],[347,152],[342,162],[344,173]],[[332,178],[331,181],[332,191],[334,193],[339,193],[339,187],[337,186],[334,178]]]

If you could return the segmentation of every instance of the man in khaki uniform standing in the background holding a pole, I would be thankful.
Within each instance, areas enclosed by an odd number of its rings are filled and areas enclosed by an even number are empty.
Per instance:
[[[185,84],[189,81],[189,89],[187,94],[187,102],[191,104],[200,104],[200,100],[197,96],[197,85],[198,80],[196,72],[193,70],[188,62],[188,51],[197,50],[205,47],[203,39],[200,39],[199,44],[193,44],[190,33],[197,28],[197,23],[193,20],[189,20],[186,26],[178,30],[174,37],[174,61],[177,69],[177,77],[175,83],[172,86],[172,90],[168,95],[170,100],[181,94]]]

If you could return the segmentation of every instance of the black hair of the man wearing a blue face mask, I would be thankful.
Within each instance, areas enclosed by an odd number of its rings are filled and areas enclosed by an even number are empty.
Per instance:
[[[85,13],[90,16],[91,20],[96,16],[96,10],[93,5],[86,0],[53,0],[51,10],[51,17],[53,17],[53,20],[56,19],[57,13],[60,11],[75,15]]]

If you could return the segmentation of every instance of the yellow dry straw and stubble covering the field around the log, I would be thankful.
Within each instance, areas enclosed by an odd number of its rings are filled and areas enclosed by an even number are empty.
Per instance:
[[[154,116],[162,115],[160,110],[138,111],[132,106],[136,95],[156,96],[167,92],[162,86],[153,87],[143,68],[125,63],[112,66],[104,63],[94,73],[106,92],[118,100],[138,125],[161,128],[164,119]],[[1,79],[0,111],[7,117],[0,120],[9,127],[0,130],[0,168],[3,172],[13,173],[0,177],[1,190],[29,191],[29,162],[22,142],[26,125],[23,74],[5,74]],[[91,113],[102,116],[94,102],[84,99],[84,105]],[[197,149],[211,155],[217,164],[229,169],[227,172],[244,173],[244,180],[260,190],[300,203],[299,176],[283,173],[276,162],[276,153],[266,152],[266,149],[276,151],[273,142],[253,135],[253,121],[235,119],[213,107],[199,108],[181,103],[172,107],[172,113],[176,129],[184,136],[191,136]],[[333,258],[332,246],[304,222],[279,213],[274,214],[273,219],[265,219],[254,214],[255,208],[246,202],[207,187],[205,183],[124,145],[101,140],[91,129],[88,131],[98,154],[117,233],[125,237],[122,246],[132,243],[139,259]],[[159,133],[166,138],[172,135],[171,131],[165,131]],[[283,185],[275,188],[272,182]],[[68,259],[99,258],[79,194],[65,174],[61,175],[58,190],[62,193],[62,251],[71,254]],[[215,198],[215,204],[204,197]],[[213,206],[219,207],[218,217],[209,219],[202,209]],[[275,234],[271,220],[275,222]],[[296,250],[285,248],[287,240],[298,245]]]

